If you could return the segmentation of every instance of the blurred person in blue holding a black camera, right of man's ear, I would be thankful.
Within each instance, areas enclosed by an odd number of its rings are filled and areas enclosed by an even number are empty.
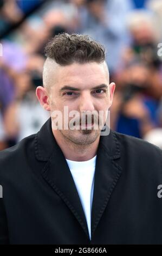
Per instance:
[[[111,108],[116,131],[142,138],[158,125],[155,115],[158,101],[148,93],[153,90],[151,76],[152,69],[140,60],[132,61],[122,70]]]

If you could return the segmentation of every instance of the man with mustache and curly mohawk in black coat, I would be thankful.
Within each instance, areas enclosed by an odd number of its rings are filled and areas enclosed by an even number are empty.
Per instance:
[[[36,95],[51,118],[0,154],[0,243],[161,243],[161,150],[102,133],[115,89],[104,48],[64,33],[46,56]]]

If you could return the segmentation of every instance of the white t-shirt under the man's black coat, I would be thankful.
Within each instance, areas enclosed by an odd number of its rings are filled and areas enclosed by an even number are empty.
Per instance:
[[[89,237],[91,239],[91,210],[94,190],[94,173],[96,156],[88,161],[72,161],[66,159],[72,173],[83,210],[85,212]]]

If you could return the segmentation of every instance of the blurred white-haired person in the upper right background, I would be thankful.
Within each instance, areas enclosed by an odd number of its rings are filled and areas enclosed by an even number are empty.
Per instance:
[[[140,57],[144,62],[155,68],[161,65],[157,54],[157,44],[160,36],[157,23],[148,11],[132,11],[127,16],[127,27],[131,34],[131,45],[122,53],[122,61],[129,62],[134,57]]]

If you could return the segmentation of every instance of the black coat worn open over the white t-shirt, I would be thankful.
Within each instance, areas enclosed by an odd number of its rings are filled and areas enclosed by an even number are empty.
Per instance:
[[[0,152],[0,243],[162,243],[162,151],[112,131],[100,136],[92,240],[51,120],[36,135]],[[84,188],[83,188],[84,189]]]

